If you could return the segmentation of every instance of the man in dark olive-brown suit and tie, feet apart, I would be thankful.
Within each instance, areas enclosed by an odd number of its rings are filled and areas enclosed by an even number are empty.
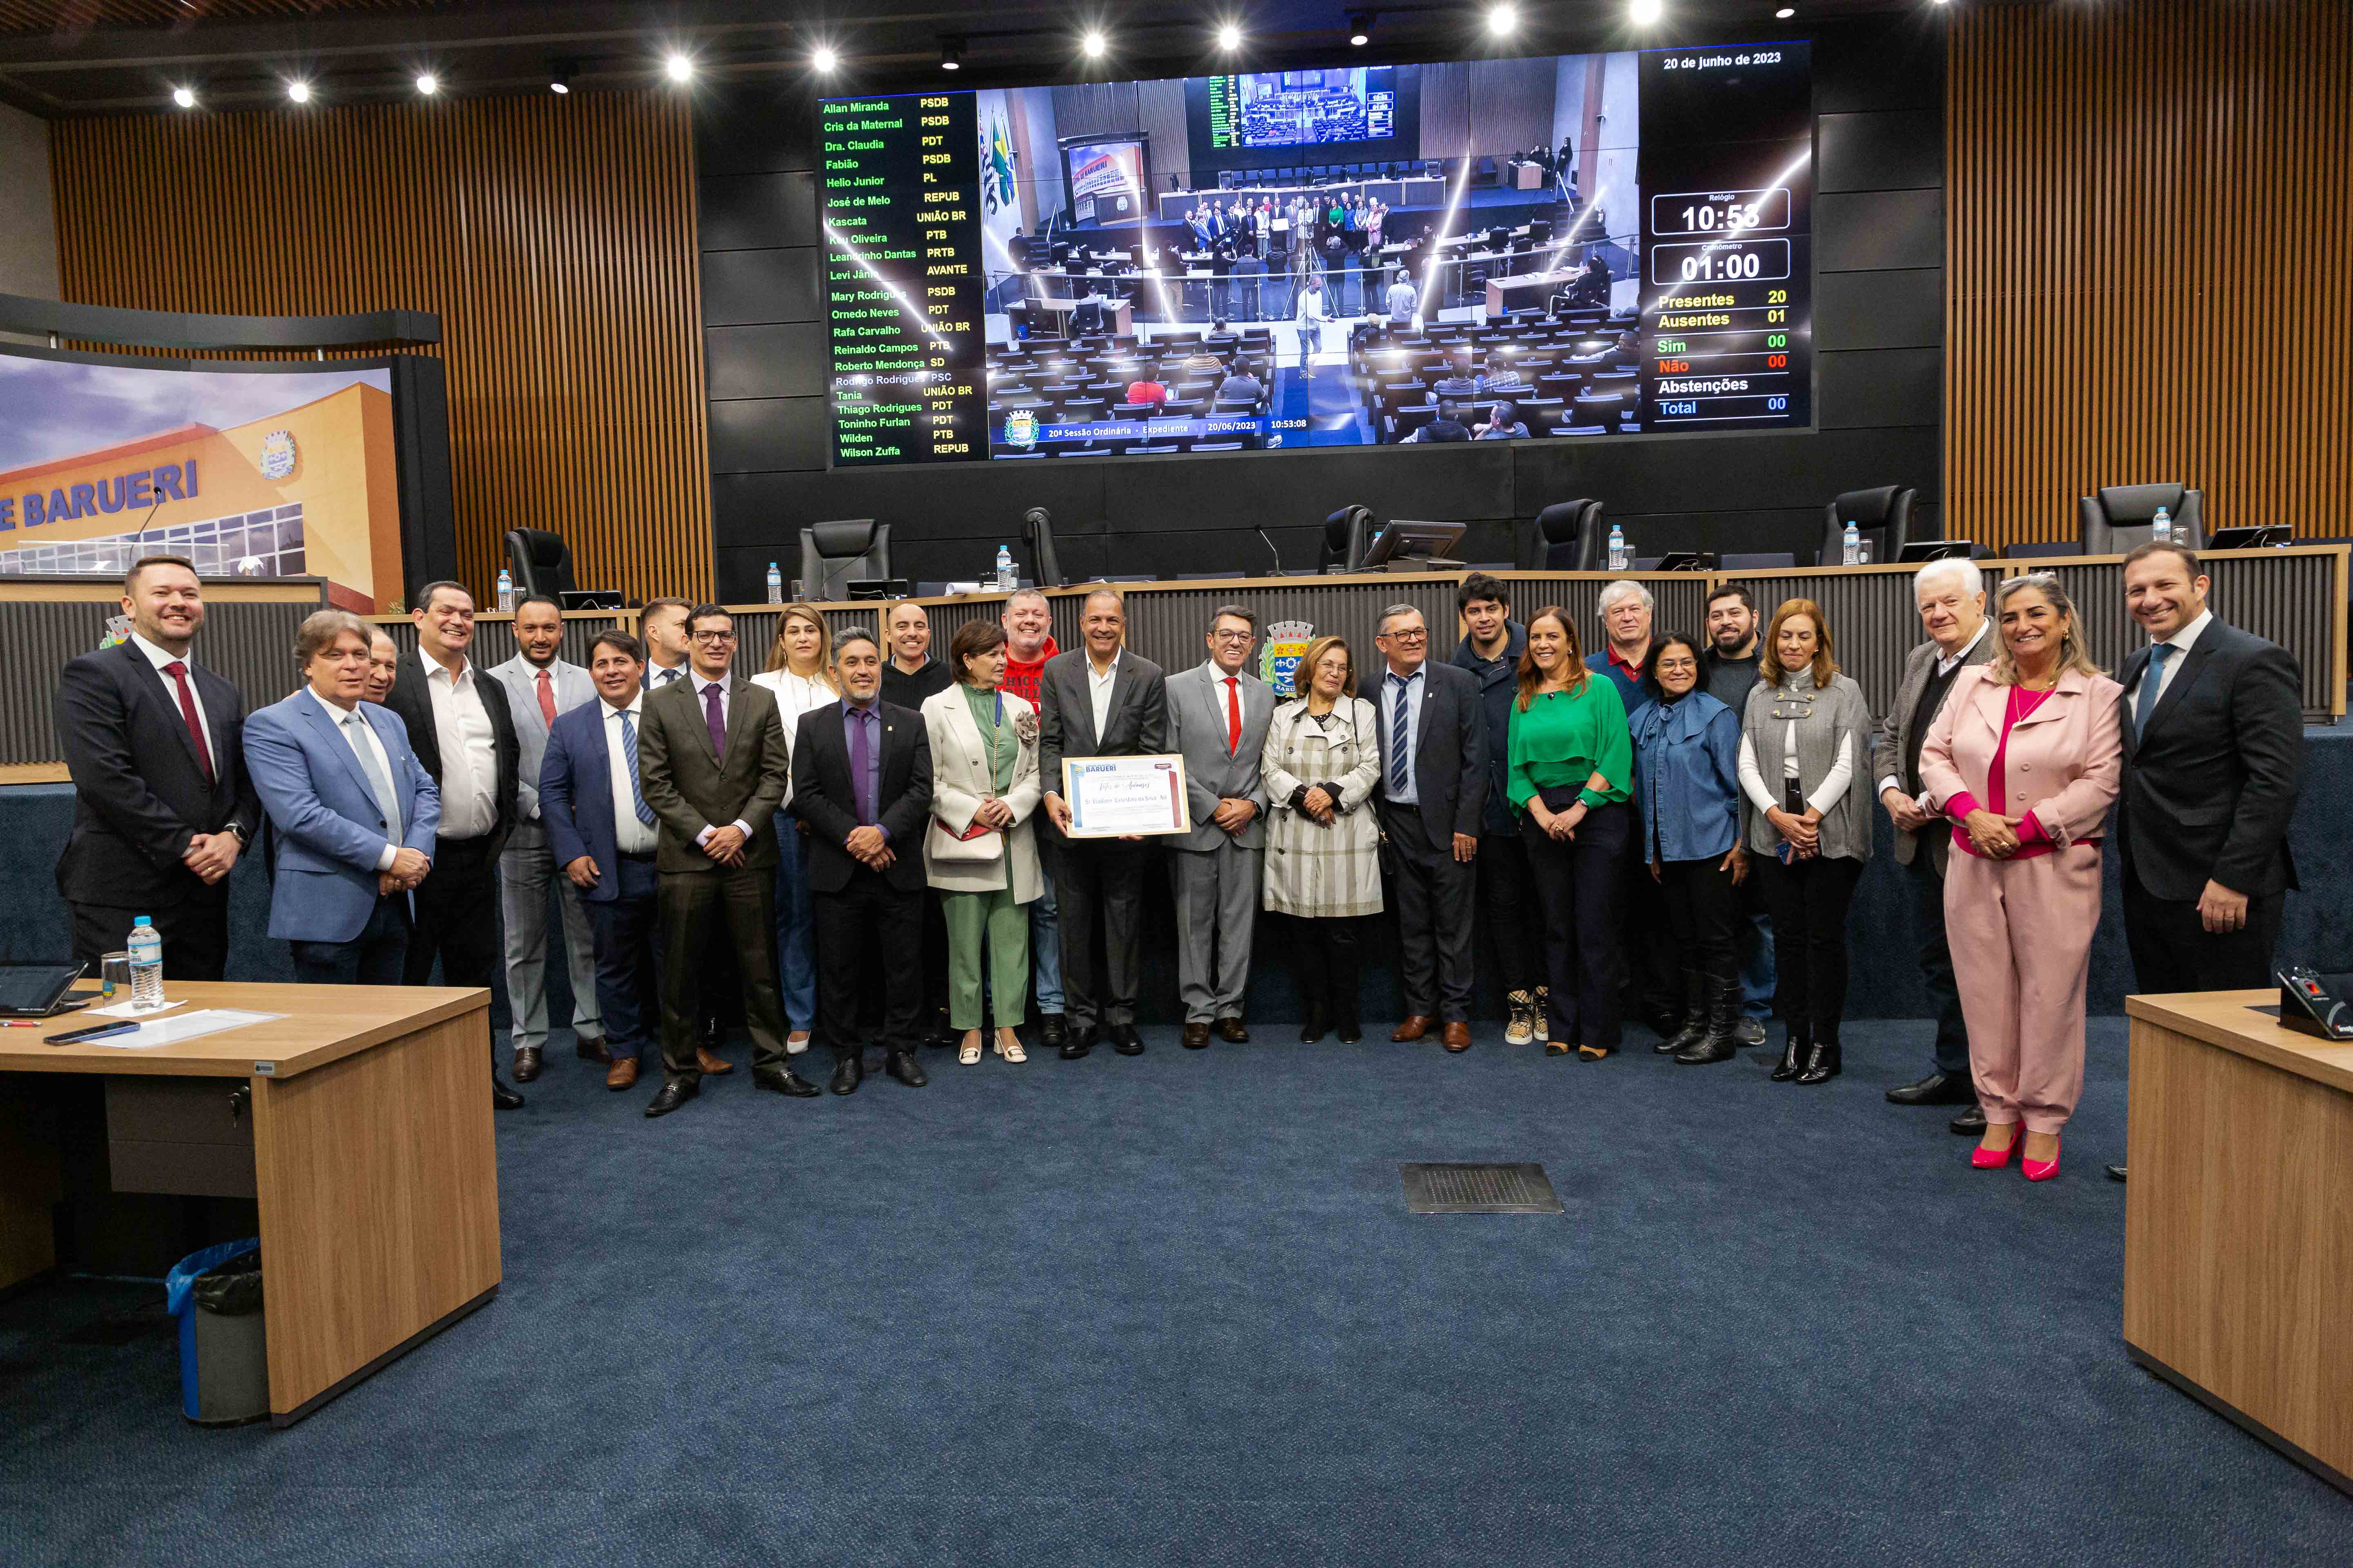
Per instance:
[[[645,701],[638,785],[659,820],[661,875],[661,1091],[647,1117],[668,1117],[701,1093],[694,1053],[704,957],[713,922],[744,976],[758,1088],[814,1095],[784,1063],[776,990],[776,806],[793,780],[784,719],[767,686],[734,675],[734,616],[699,604],[687,616],[689,672]]]

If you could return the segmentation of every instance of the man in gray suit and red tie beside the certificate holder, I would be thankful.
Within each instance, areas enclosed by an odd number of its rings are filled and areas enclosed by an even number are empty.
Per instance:
[[[1249,675],[1259,614],[1219,604],[1209,616],[1209,658],[1169,677],[1169,745],[1184,755],[1186,811],[1193,832],[1172,839],[1176,882],[1176,987],[1184,994],[1184,1044],[1200,1051],[1209,1025],[1219,1039],[1245,1041],[1242,992],[1249,990],[1249,929],[1259,912],[1266,863],[1266,785],[1259,755],[1275,689]]]

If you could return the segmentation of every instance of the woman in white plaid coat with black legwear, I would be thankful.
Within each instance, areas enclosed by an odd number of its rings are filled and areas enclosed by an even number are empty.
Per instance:
[[[1381,912],[1381,830],[1372,790],[1381,783],[1381,731],[1355,693],[1355,658],[1339,637],[1318,637],[1292,677],[1304,696],[1275,708],[1259,771],[1266,778],[1266,882],[1261,903],[1289,914],[1299,966],[1304,1044],[1325,1027],[1362,1039],[1355,926]]]

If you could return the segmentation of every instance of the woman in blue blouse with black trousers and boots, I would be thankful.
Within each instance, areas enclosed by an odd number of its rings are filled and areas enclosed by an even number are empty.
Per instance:
[[[1642,802],[1642,858],[1666,889],[1666,919],[1682,954],[1685,1025],[1654,1051],[1685,1067],[1729,1063],[1741,1016],[1732,889],[1748,875],[1741,851],[1741,715],[1699,689],[1699,639],[1668,632],[1652,649],[1659,696],[1633,712]]]

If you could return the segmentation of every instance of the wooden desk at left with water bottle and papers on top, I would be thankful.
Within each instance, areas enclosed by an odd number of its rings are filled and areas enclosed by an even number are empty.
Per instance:
[[[167,994],[181,1011],[285,1018],[129,1051],[42,1044],[89,1023],[75,1013],[0,1030],[0,1072],[252,1086],[271,1420],[287,1427],[499,1291],[489,992],[174,983]],[[0,1107],[0,1286],[54,1262],[45,1157],[38,1131]]]

